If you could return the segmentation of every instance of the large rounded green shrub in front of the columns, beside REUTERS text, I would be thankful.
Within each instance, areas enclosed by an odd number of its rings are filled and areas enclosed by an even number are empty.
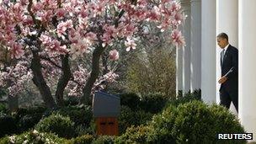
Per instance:
[[[200,101],[170,105],[161,115],[153,117],[154,128],[147,139],[160,143],[244,143],[245,141],[217,141],[216,134],[243,133],[236,116],[219,105],[207,106]],[[172,141],[169,141],[172,140]]]

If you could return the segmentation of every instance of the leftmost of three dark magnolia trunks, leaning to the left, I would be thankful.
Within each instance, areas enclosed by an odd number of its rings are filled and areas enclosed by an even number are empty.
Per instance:
[[[51,90],[48,87],[48,85],[45,82],[45,78],[43,77],[43,73],[41,71],[41,64],[40,64],[40,57],[38,56],[38,53],[35,51],[33,52],[33,58],[31,61],[31,70],[34,74],[33,82],[35,83],[35,86],[39,89],[40,94],[42,96],[42,99],[45,102],[45,105],[48,108],[55,107],[55,101],[51,95]]]

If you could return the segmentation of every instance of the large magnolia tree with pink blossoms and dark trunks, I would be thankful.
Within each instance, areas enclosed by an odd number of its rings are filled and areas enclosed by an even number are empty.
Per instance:
[[[178,27],[184,20],[179,2],[174,0],[0,0],[0,55],[8,65],[1,67],[0,87],[17,95],[24,82],[32,79],[48,107],[63,104],[63,93],[90,94],[102,82],[113,82],[115,72],[99,77],[99,61],[104,53],[119,59],[114,44],[126,51],[136,49],[143,22],[159,29],[172,29],[167,40],[184,45]],[[111,47],[112,50],[109,50]],[[92,54],[91,71],[79,57]],[[72,66],[71,61],[81,62]],[[56,83],[52,80],[56,79]],[[55,85],[55,92],[51,92]],[[52,93],[55,93],[56,103]]]

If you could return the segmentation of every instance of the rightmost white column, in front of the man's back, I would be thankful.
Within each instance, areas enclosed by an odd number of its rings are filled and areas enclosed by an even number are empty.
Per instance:
[[[239,118],[256,141],[256,1],[239,1]]]

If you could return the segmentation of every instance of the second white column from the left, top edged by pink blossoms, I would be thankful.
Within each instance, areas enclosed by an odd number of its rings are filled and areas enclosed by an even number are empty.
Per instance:
[[[184,13],[187,15],[183,25],[183,35],[186,45],[183,47],[183,93],[188,93],[190,89],[190,3],[188,0],[181,1]]]

